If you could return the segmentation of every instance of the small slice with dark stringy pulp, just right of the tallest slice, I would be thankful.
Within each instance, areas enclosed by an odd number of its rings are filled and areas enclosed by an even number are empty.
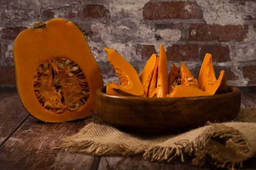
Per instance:
[[[172,67],[168,76],[169,79],[169,93],[172,92],[172,87],[180,85],[180,68],[172,62]]]

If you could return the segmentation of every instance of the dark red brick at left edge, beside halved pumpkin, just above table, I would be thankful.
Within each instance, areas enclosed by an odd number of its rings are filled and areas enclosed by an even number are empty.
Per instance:
[[[11,85],[15,83],[14,66],[0,66],[0,85]]]

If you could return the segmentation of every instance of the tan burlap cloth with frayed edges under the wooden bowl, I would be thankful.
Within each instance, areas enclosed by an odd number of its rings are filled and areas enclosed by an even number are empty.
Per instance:
[[[217,167],[229,169],[256,156],[256,108],[241,108],[232,122],[208,122],[204,127],[176,135],[128,133],[98,116],[86,121],[79,133],[65,138],[55,148],[95,156],[138,155],[167,162],[175,156],[183,161],[185,155],[190,155],[194,165],[203,165],[208,159]]]

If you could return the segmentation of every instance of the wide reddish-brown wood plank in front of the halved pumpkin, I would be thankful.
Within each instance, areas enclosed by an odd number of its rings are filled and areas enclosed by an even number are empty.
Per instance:
[[[0,147],[0,169],[96,169],[99,157],[51,150],[84,127],[84,120],[66,123],[44,123],[30,117]]]

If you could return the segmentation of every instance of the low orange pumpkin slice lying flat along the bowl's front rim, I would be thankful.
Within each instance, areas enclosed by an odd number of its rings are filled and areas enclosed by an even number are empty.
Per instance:
[[[194,86],[187,85],[176,85],[173,87],[171,94],[166,95],[165,97],[190,97],[190,96],[209,96],[211,94],[202,91],[199,88]]]

